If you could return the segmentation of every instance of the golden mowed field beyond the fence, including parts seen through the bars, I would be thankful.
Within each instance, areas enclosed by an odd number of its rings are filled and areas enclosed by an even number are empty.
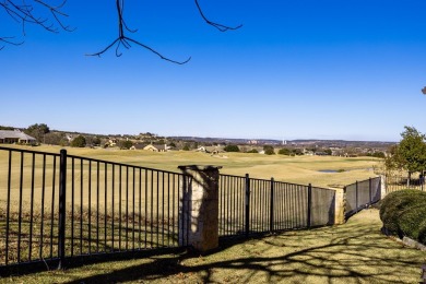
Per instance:
[[[39,146],[34,149],[25,146],[12,147],[44,151],[56,154],[61,150],[59,146]],[[263,179],[274,177],[275,180],[280,181],[303,185],[311,182],[317,187],[343,186],[352,184],[355,180],[372,177],[372,165],[379,163],[379,161],[375,158],[288,157],[282,155],[268,156],[244,153],[225,153],[213,156],[205,153],[185,151],[153,153],[147,151],[72,147],[68,147],[67,151],[69,155],[174,173],[179,173],[178,166],[180,165],[222,166],[222,174],[237,176],[249,174],[252,178]],[[5,212],[9,208],[11,215],[10,220],[12,221],[9,230],[11,238],[8,244],[11,252],[9,255],[9,261],[15,261],[16,244],[24,242],[32,244],[31,246],[24,246],[26,248],[32,247],[42,240],[44,242],[47,241],[47,249],[43,250],[43,252],[38,252],[37,249],[33,249],[32,251],[24,250],[21,260],[26,260],[29,256],[31,259],[51,256],[52,249],[49,248],[48,242],[52,238],[55,239],[57,234],[59,170],[57,169],[54,175],[52,157],[46,158],[46,170],[44,170],[43,161],[40,159],[42,156],[37,155],[33,178],[32,155],[25,154],[23,159],[21,159],[21,155],[14,153],[11,163],[11,190],[9,191],[8,155],[8,151],[0,151],[0,247],[4,249],[4,244],[2,245],[2,241],[5,240],[5,236],[8,235]],[[23,171],[21,171],[21,161],[24,162]],[[59,159],[57,158],[57,167],[58,164]],[[157,173],[144,170],[133,171],[132,168],[128,170],[127,167],[120,169],[118,166],[115,167],[113,175],[113,167],[110,165],[106,167],[105,164],[97,165],[95,162],[91,165],[87,162],[84,162],[83,164],[82,170],[80,162],[76,161],[73,178],[70,173],[68,173],[67,177],[68,212],[70,212],[71,208],[75,208],[75,212],[73,214],[69,213],[67,216],[68,218],[76,220],[74,229],[70,230],[69,228],[71,224],[70,220],[67,222],[67,229],[73,232],[76,238],[88,239],[88,242],[79,242],[79,240],[76,240],[75,249],[78,250],[80,247],[79,244],[83,244],[83,248],[80,250],[86,251],[88,249],[87,246],[92,247],[92,245],[96,242],[97,235],[100,236],[100,252],[104,251],[104,247],[105,250],[109,250],[109,248],[113,247],[121,248],[120,245],[117,245],[117,237],[120,236],[122,239],[128,240],[129,236],[127,235],[127,232],[134,228],[138,229],[138,232],[142,232],[142,239],[146,239],[144,244],[141,244],[142,247],[162,247],[164,241],[162,241],[162,244],[154,241],[152,235],[156,235],[157,232],[163,232],[164,224],[167,224],[166,232],[168,232],[170,220],[171,227],[176,225],[175,223],[177,222],[178,214],[178,180],[168,175],[157,175]],[[69,158],[68,168],[70,169],[71,166],[71,158]],[[88,168],[92,169],[91,174],[88,174]],[[99,168],[99,173],[96,171],[97,168]],[[345,171],[324,174],[319,173],[318,170],[320,169],[344,169]],[[22,177],[21,173],[23,173]],[[111,176],[115,176],[115,179],[113,179],[114,182]],[[174,180],[171,182],[174,186],[169,187],[168,180]],[[55,190],[52,190],[54,186]],[[9,204],[7,204],[8,194],[10,194]],[[55,200],[55,202],[52,202],[52,200]],[[71,200],[74,200],[74,202],[72,203]],[[19,215],[19,212],[23,212],[22,228],[16,225],[17,220],[21,216]],[[135,213],[137,216],[135,223],[133,222],[133,213]],[[87,216],[91,217],[88,218]],[[79,222],[79,220],[81,222]],[[115,228],[113,227],[113,220],[116,221]],[[126,226],[118,232],[116,238],[113,240],[110,233],[111,230],[116,232],[117,223],[120,220],[122,220]],[[128,224],[129,220],[130,222]],[[99,226],[97,226],[98,223]],[[50,232],[52,232],[54,235],[51,235]],[[107,236],[104,236],[104,232],[109,233]],[[138,232],[137,235],[139,236],[140,234]],[[68,235],[70,235],[70,233]],[[146,235],[147,237],[145,237]],[[21,242],[14,241],[19,236],[22,237]],[[95,239],[92,240],[92,238]],[[132,239],[133,238],[130,238],[130,241],[132,241]],[[166,242],[169,242],[168,237]],[[96,248],[92,249],[92,251],[98,250]],[[4,256],[4,250],[0,250],[0,252]],[[0,264],[5,261],[3,256],[0,255]]]

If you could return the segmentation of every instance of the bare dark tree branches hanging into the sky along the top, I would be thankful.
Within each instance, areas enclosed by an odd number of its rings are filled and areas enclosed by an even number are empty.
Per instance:
[[[233,31],[233,29],[238,29],[242,26],[242,25],[238,25],[233,27],[233,26],[226,26],[210,21],[205,16],[203,10],[201,9],[199,0],[194,0],[194,2],[201,17],[205,21],[205,23],[217,28],[218,31],[221,32]],[[70,26],[64,25],[62,22],[63,17],[68,16],[68,14],[66,14],[62,11],[62,8],[66,5],[66,3],[67,0],[63,0],[59,5],[52,5],[48,3],[47,0],[46,1],[45,0],[26,0],[26,1],[25,0],[0,0],[0,8],[2,8],[10,15],[12,20],[14,20],[16,23],[22,25],[22,34],[23,36],[25,36],[26,24],[39,25],[46,31],[51,33],[58,33],[60,28],[67,32],[74,31],[73,28],[70,28]],[[127,22],[125,20],[125,12],[123,12],[125,3],[126,0],[116,0],[116,10],[118,16],[118,37],[100,51],[94,54],[87,54],[87,56],[100,57],[110,48],[115,47],[116,56],[120,57],[122,55],[121,48],[123,47],[126,49],[129,49],[133,44],[139,47],[145,48],[149,51],[158,56],[161,59],[173,63],[185,64],[191,59],[191,57],[189,57],[184,61],[173,60],[168,57],[163,56],[156,49],[141,43],[140,40],[129,37],[128,34],[134,34],[135,32],[138,32],[138,29],[132,29],[127,25]],[[36,8],[42,8],[42,9],[40,11],[38,10],[36,11]],[[4,48],[5,44],[16,46],[16,45],[22,45],[23,40],[22,42],[16,40],[14,36],[0,36],[0,50]]]

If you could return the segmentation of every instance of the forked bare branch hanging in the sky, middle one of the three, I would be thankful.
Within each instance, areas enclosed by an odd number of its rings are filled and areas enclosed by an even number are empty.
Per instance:
[[[109,44],[106,48],[104,48],[103,50],[95,52],[95,54],[88,54],[86,56],[100,57],[104,52],[108,51],[113,46],[117,45],[116,46],[116,56],[120,57],[122,55],[122,52],[120,51],[120,47],[123,46],[126,49],[129,49],[131,47],[130,43],[133,43],[133,44],[139,45],[140,47],[143,47],[143,48],[150,50],[151,52],[157,55],[161,59],[176,63],[176,64],[185,64],[189,60],[191,60],[191,57],[189,57],[185,61],[176,61],[176,60],[169,59],[169,58],[163,56],[162,54],[159,54],[158,51],[156,51],[155,49],[153,49],[153,48],[151,48],[151,47],[133,39],[133,38],[126,36],[125,29],[127,32],[130,32],[130,33],[135,33],[138,29],[131,29],[126,24],[125,19],[123,19],[123,7],[125,7],[125,0],[116,0],[116,8],[117,8],[117,14],[118,14],[118,37],[111,44]]]

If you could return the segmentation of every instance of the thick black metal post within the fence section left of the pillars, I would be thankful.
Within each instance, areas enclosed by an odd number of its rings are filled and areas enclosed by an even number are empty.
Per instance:
[[[58,224],[58,269],[64,268],[66,261],[66,203],[67,203],[67,150],[60,151],[59,164],[59,224]]]

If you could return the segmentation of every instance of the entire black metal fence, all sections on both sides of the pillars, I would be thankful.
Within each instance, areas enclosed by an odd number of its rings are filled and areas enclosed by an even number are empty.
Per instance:
[[[179,247],[182,180],[182,174],[64,150],[56,154],[0,146],[0,271]],[[380,181],[368,182],[346,187],[346,210],[380,198]],[[336,196],[331,189],[220,175],[218,190],[222,237],[334,224]]]

